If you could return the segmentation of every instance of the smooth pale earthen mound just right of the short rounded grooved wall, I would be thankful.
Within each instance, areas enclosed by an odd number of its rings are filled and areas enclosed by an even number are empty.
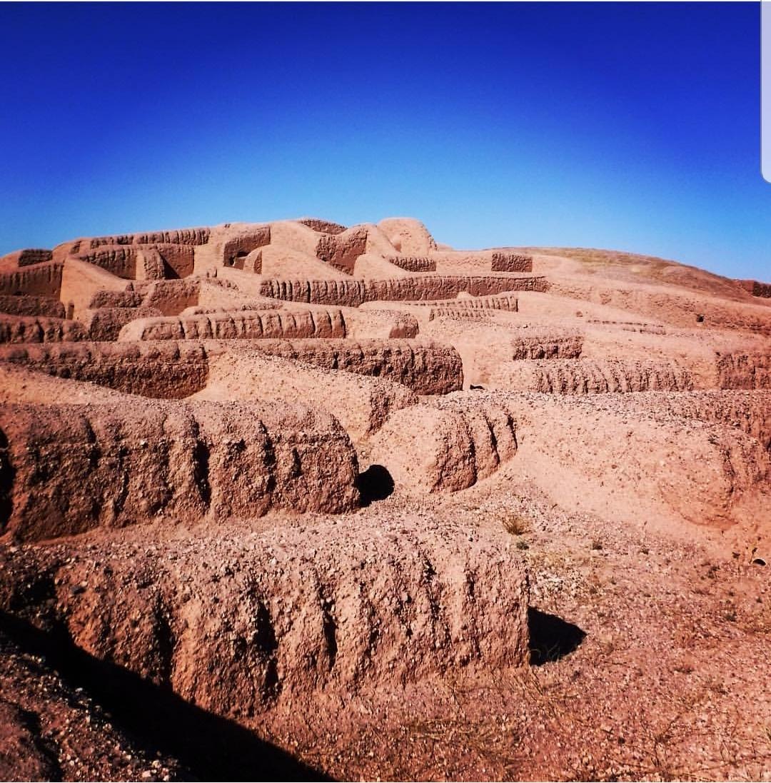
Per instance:
[[[479,394],[513,418],[518,469],[565,507],[686,535],[683,521],[755,529],[764,516],[771,455],[736,428],[634,410],[636,395]]]

